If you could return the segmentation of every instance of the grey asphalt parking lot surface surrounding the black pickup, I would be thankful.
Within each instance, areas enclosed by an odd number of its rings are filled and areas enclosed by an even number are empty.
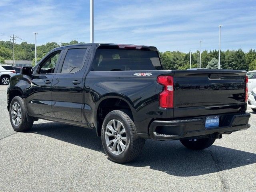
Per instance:
[[[251,128],[191,151],[146,140],[129,164],[108,160],[95,130],[45,120],[12,130],[0,86],[0,191],[256,191],[256,113]]]

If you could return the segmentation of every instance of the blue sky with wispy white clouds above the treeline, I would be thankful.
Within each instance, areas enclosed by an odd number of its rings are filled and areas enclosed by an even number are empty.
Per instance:
[[[161,52],[256,49],[256,0],[94,0],[94,41]],[[0,40],[90,42],[90,0],[0,0]],[[21,39],[22,40],[21,40]]]

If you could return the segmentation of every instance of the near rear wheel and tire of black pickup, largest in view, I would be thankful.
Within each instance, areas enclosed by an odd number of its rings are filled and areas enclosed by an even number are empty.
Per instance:
[[[111,111],[102,124],[101,141],[104,151],[110,160],[117,163],[135,160],[145,143],[145,139],[137,135],[135,124],[128,114],[120,110]]]

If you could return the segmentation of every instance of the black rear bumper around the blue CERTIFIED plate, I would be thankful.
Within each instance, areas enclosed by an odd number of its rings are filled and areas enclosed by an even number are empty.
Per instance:
[[[205,128],[205,116],[182,120],[154,120],[149,127],[150,138],[156,140],[178,140],[181,138],[200,137],[211,134],[230,134],[238,130],[246,130],[250,113],[222,114],[220,126]]]

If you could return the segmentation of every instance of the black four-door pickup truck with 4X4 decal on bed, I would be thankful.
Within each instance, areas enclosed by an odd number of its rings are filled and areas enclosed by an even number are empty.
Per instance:
[[[156,47],[80,44],[56,48],[10,79],[15,131],[38,118],[92,128],[114,162],[134,160],[145,139],[211,146],[250,127],[244,70],[164,70]]]

